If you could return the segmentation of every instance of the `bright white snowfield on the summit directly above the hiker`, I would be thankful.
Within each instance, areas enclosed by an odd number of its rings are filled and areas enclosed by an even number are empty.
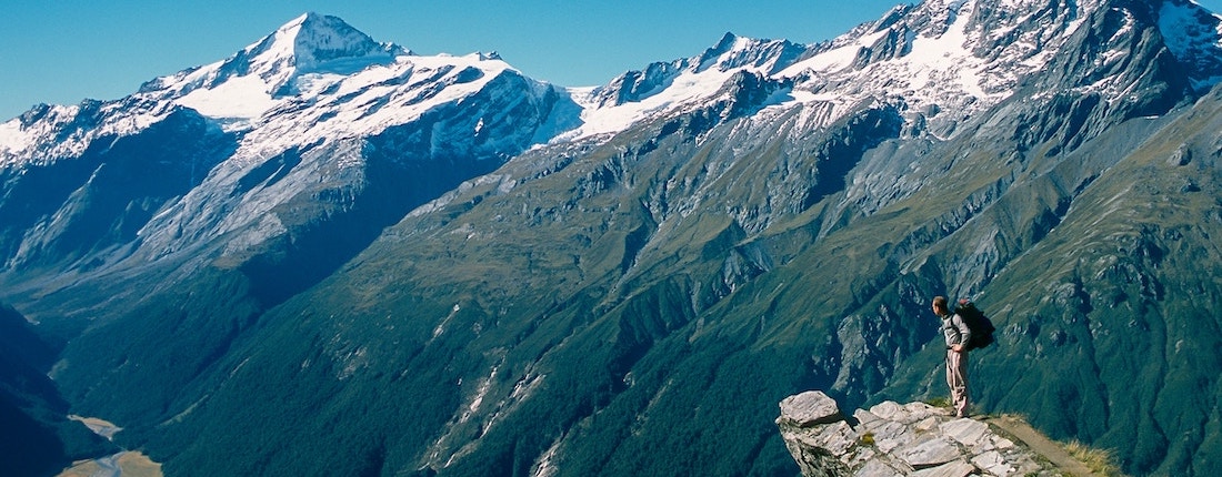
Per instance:
[[[959,118],[1013,94],[1097,2],[1050,9],[1035,0],[927,0],[897,6],[877,22],[816,45],[815,54],[780,74],[799,79],[798,101],[842,112],[860,101],[891,102],[935,135],[946,135]],[[937,111],[956,113],[934,118]]]

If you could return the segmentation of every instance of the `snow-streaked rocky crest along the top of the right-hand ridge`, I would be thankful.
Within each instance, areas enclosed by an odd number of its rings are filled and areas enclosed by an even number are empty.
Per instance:
[[[888,104],[936,137],[1013,95],[1045,68],[1105,0],[926,0],[901,5],[826,43],[796,45],[726,34],[701,55],[631,71],[605,87],[572,89],[584,124],[567,140],[621,131],[646,117],[714,100],[736,72],[792,84],[777,106],[808,107],[820,127],[868,104]],[[1220,78],[1217,17],[1187,0],[1162,2],[1168,48],[1193,65],[1198,88]],[[1123,9],[1116,6],[1114,9]],[[1174,30],[1174,32],[1173,32]],[[951,113],[947,113],[951,112]]]

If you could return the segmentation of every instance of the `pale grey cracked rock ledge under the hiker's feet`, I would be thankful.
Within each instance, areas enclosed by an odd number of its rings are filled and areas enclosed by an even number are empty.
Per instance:
[[[886,401],[846,417],[811,390],[782,400],[776,425],[807,477],[1063,475],[1000,428],[924,403]]]

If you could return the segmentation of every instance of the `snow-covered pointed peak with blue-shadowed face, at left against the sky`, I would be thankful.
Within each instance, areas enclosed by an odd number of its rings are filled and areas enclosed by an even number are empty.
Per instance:
[[[185,107],[242,132],[240,155],[252,148],[252,156],[274,155],[292,144],[414,121],[502,73],[521,77],[511,70],[495,52],[417,56],[337,17],[306,13],[229,59],[153,79],[123,100],[44,107],[0,124],[0,165],[28,160],[40,144],[57,151],[44,155],[72,156],[103,134],[132,134]],[[521,79],[535,87],[533,94],[550,94],[550,87]],[[87,127],[66,133],[77,124]]]

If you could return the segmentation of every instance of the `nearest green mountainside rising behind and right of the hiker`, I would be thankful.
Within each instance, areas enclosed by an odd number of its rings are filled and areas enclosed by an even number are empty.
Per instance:
[[[1144,126],[1119,127],[1052,168],[1089,182],[1064,220],[981,290],[1001,328],[997,348],[973,364],[981,406],[1114,449],[1132,472],[1217,470],[1220,388],[1206,370],[1222,360],[1218,111],[1207,98],[1139,145],[1125,134],[1143,138]],[[1114,166],[1084,167],[1100,159]],[[935,354],[914,359],[888,392],[942,393],[929,372]]]

